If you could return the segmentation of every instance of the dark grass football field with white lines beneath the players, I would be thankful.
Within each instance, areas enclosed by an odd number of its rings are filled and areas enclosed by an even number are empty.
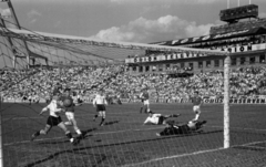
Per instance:
[[[266,106],[231,105],[231,148],[223,148],[223,105],[204,105],[200,119],[207,121],[200,134],[158,137],[163,125],[142,123],[140,104],[109,105],[105,125],[92,121],[91,104],[76,107],[75,117],[86,137],[72,146],[54,127],[30,142],[45,125],[44,104],[1,106],[4,167],[265,167]],[[188,104],[152,104],[161,114],[182,114],[185,123],[194,117]],[[65,119],[65,116],[62,115]],[[73,128],[70,127],[73,132]]]

